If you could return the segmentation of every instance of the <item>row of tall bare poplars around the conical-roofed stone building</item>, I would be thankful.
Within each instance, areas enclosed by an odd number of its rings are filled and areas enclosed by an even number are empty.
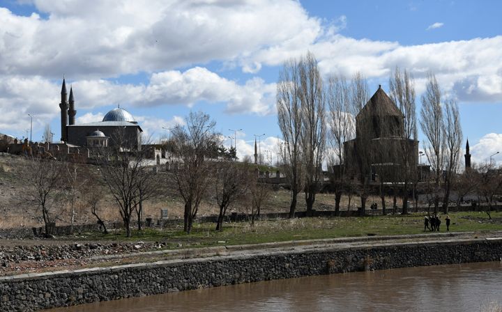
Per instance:
[[[399,109],[402,120],[397,123],[383,120],[377,131],[385,134],[383,137],[393,138],[393,144],[388,140],[374,140],[374,121],[356,121],[356,116],[370,99],[363,75],[357,72],[350,81],[332,75],[324,83],[317,61],[310,52],[284,63],[277,83],[277,120],[284,140],[284,148],[280,149],[282,163],[291,185],[290,217],[294,216],[297,196],[302,191],[305,192],[307,213],[312,211],[321,184],[323,162],[328,166],[340,165],[337,178],[332,180],[336,213],[340,211],[342,194],[352,192],[360,195],[360,212],[365,213],[370,181],[376,176],[372,168],[379,166],[381,170],[377,176],[381,182],[384,211],[383,183],[393,183],[395,189],[399,187],[402,192],[402,210],[406,214],[410,191],[416,188],[420,178],[416,162],[418,125],[425,134],[425,155],[434,173],[434,212],[439,207],[439,194],[444,194],[443,211],[448,211],[452,178],[459,169],[462,142],[457,103],[443,98],[436,77],[429,73],[418,122],[413,77],[400,68],[390,75],[389,97]],[[377,111],[375,114],[383,116],[388,112]],[[356,138],[354,158],[345,159],[344,143]],[[377,144],[381,146],[375,147]],[[374,164],[373,159],[393,159],[394,172],[383,170],[385,166]],[[347,172],[347,161],[355,162],[357,165],[350,167],[358,172]]]

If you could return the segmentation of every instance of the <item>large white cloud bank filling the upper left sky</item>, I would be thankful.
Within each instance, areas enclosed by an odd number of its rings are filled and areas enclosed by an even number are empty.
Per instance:
[[[0,74],[113,77],[238,59],[315,38],[321,20],[296,1],[33,0],[47,19],[0,8]],[[274,31],[271,31],[273,29]]]

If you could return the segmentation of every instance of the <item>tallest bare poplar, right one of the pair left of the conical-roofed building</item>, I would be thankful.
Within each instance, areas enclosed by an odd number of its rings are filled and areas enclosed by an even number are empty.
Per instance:
[[[317,60],[312,53],[299,63],[301,81],[302,146],[305,165],[305,202],[312,213],[315,196],[323,182],[322,162],[326,146],[326,102]]]

